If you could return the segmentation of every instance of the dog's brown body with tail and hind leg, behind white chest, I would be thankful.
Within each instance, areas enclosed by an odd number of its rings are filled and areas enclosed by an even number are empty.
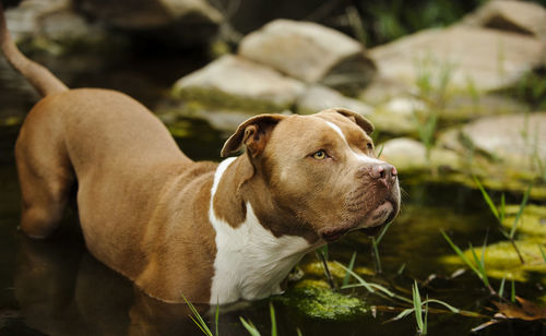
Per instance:
[[[214,256],[212,227],[200,228],[202,236],[188,227],[182,238],[171,229],[182,221],[191,226],[195,216],[206,215],[199,207],[209,204],[216,164],[186,157],[165,125],[131,97],[109,89],[69,89],[28,60],[7,31],[1,3],[0,44],[13,68],[44,96],[28,112],[15,146],[22,191],[20,229],[33,238],[49,237],[78,188],[82,231],[95,257],[164,298],[179,297],[180,286],[210,290],[185,284],[180,275],[187,273],[185,262],[171,260],[176,265],[166,267],[169,261],[162,253],[173,247],[180,255],[191,255],[187,247],[199,244],[211,247],[207,255]],[[203,230],[211,232],[203,235]],[[210,279],[211,267],[193,272],[193,279],[199,273]],[[159,273],[162,281],[157,281]],[[209,296],[190,290],[186,295]]]

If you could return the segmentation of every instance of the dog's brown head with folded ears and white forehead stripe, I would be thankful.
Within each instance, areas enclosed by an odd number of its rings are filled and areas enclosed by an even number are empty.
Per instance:
[[[246,183],[260,195],[252,207],[273,233],[334,241],[357,229],[375,233],[399,212],[397,172],[376,157],[372,131],[341,108],[261,115],[239,125],[222,155],[246,145],[253,167]]]

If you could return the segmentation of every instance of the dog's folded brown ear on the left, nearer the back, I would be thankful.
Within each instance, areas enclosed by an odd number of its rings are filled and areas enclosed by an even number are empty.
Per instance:
[[[252,157],[260,155],[265,148],[273,128],[284,118],[286,116],[283,115],[260,115],[239,124],[237,131],[224,144],[222,157],[239,151],[244,144]]]

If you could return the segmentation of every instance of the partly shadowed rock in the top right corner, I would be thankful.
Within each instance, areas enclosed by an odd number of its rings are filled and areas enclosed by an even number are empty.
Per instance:
[[[546,10],[527,1],[487,1],[461,21],[462,25],[532,35],[546,41]]]

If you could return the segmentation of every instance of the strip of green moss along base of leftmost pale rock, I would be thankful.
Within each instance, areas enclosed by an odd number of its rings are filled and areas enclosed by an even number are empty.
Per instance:
[[[292,107],[290,104],[278,105],[264,99],[234,96],[216,88],[175,86],[171,95],[186,101],[199,101],[211,108],[252,111],[257,115],[281,112]]]

